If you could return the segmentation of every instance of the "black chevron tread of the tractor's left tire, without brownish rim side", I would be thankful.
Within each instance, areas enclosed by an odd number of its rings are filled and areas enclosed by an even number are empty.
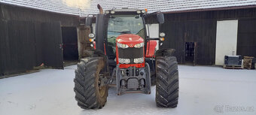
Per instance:
[[[103,103],[99,102],[99,95],[96,93],[95,86],[95,74],[100,59],[102,57],[81,59],[78,68],[75,70],[75,100],[78,101],[78,106],[83,109],[102,108],[105,105],[107,97],[103,97],[105,99]]]

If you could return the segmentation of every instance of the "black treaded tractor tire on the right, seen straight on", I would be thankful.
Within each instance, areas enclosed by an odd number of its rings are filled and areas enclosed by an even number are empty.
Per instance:
[[[157,56],[157,107],[177,107],[178,62],[175,56]]]

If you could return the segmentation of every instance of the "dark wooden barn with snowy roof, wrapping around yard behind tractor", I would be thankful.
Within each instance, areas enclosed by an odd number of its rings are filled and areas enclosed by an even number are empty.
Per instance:
[[[90,48],[87,35],[91,29],[84,22],[99,12],[97,4],[104,10],[162,11],[164,24],[155,23],[155,16],[146,19],[151,37],[165,32],[166,40],[159,48],[175,49],[181,64],[223,65],[225,55],[256,57],[255,0],[139,0],[125,4],[122,0],[0,0],[0,76],[32,70],[42,63],[63,68],[63,60],[78,60],[82,50]]]

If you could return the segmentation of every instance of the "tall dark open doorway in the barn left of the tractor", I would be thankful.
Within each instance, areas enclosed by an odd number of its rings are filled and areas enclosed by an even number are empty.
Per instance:
[[[76,27],[62,27],[64,65],[78,62],[78,33]]]

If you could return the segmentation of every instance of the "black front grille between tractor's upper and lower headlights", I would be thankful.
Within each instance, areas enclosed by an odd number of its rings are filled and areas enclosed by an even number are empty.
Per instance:
[[[118,48],[118,57],[122,59],[130,59],[130,64],[135,64],[134,59],[143,57],[143,47],[128,47],[128,48]]]

